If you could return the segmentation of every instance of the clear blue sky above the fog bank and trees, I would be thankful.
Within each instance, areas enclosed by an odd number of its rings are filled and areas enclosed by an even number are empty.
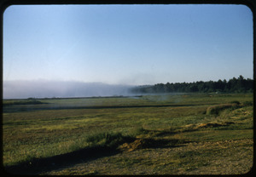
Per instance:
[[[3,96],[21,81],[147,85],[240,75],[253,78],[245,5],[13,5],[3,14]]]

